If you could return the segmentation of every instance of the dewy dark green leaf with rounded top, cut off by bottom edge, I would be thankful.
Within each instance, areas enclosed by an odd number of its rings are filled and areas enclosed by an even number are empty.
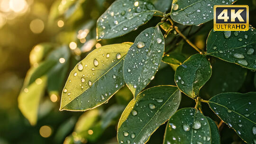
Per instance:
[[[210,125],[195,108],[182,108],[168,121],[164,144],[211,144]]]

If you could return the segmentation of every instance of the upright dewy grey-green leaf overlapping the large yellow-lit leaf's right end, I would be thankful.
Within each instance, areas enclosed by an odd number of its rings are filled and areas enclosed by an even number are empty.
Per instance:
[[[123,72],[124,80],[135,98],[154,79],[164,51],[164,36],[159,27],[145,29],[129,48]]]

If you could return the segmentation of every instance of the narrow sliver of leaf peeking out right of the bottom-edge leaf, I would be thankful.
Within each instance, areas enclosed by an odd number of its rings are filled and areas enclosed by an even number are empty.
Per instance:
[[[206,117],[210,125],[211,144],[220,144],[219,129],[216,123],[210,118]]]

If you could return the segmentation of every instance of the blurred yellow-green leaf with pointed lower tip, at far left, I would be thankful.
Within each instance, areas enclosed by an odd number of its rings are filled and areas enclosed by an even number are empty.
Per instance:
[[[21,90],[18,96],[18,108],[31,125],[37,123],[37,111],[41,96],[44,95],[47,77],[42,76]]]

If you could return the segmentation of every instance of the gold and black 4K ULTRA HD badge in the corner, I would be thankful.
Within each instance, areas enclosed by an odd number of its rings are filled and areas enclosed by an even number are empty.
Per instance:
[[[249,29],[249,7],[247,5],[215,5],[213,27],[216,31]]]

